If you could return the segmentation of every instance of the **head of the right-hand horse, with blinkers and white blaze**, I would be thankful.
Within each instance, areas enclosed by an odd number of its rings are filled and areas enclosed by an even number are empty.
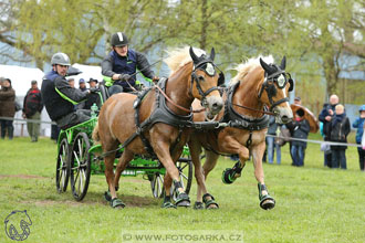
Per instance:
[[[288,94],[293,91],[294,82],[285,72],[286,59],[282,59],[280,66],[267,64],[260,59],[261,67],[264,70],[264,77],[259,91],[259,98],[275,114],[277,123],[286,124],[293,118],[289,105]]]

